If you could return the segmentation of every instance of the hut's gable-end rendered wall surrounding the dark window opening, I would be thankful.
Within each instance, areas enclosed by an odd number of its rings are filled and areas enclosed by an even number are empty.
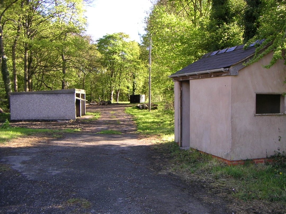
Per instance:
[[[273,155],[278,147],[286,151],[286,115],[255,115],[255,93],[286,91],[285,65],[280,60],[270,69],[263,68],[270,59],[268,54],[240,70],[238,76],[232,76],[231,160],[265,158]]]

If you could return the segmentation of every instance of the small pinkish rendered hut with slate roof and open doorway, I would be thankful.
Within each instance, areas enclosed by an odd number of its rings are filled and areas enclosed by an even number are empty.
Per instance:
[[[244,66],[255,47],[205,54],[169,76],[174,81],[175,141],[229,163],[286,150],[286,68],[273,53]]]

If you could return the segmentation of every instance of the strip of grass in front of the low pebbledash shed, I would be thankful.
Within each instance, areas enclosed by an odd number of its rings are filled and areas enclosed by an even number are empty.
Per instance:
[[[0,143],[8,142],[14,138],[33,135],[37,133],[51,133],[54,137],[61,137],[61,133],[73,133],[79,132],[80,129],[63,129],[63,130],[51,130],[51,129],[30,129],[20,127],[0,128]]]

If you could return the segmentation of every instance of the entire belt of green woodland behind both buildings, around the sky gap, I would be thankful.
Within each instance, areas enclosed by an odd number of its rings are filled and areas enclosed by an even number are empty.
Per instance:
[[[286,64],[286,0],[155,0],[140,44],[117,32],[92,41],[84,17],[90,3],[0,0],[1,108],[9,109],[8,93],[17,91],[81,88],[89,101],[148,98],[150,37],[152,101],[172,102],[168,76],[211,51],[264,39],[251,62],[273,51],[266,67]]]

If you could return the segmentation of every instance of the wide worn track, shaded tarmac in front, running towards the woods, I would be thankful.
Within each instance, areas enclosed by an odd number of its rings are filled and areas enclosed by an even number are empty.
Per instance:
[[[17,122],[82,128],[62,138],[25,138],[0,147],[0,213],[232,213],[206,203],[203,187],[152,167],[158,154],[138,139],[126,105],[90,106],[97,121]],[[96,134],[117,130],[123,134]],[[217,200],[218,201],[218,200]]]

